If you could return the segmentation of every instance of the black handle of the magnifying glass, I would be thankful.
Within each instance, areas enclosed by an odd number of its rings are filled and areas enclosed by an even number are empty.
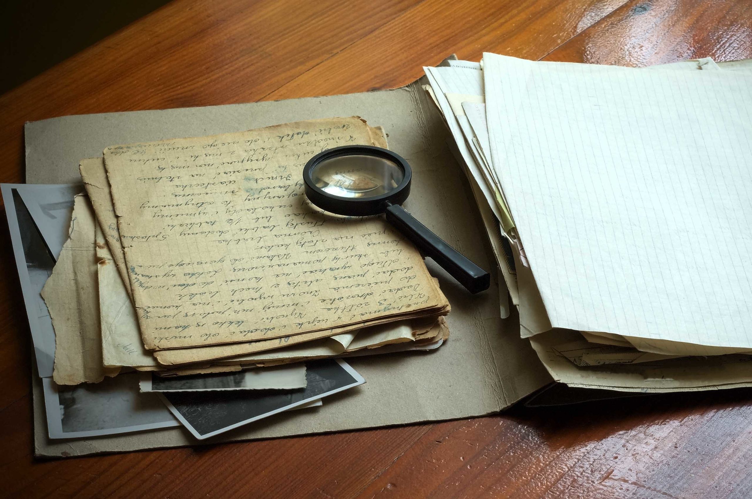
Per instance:
[[[426,225],[418,222],[414,216],[399,204],[390,204],[386,210],[387,221],[405,234],[421,252],[430,256],[441,265],[457,282],[471,293],[488,289],[490,274],[462,256],[446,241],[438,237]]]

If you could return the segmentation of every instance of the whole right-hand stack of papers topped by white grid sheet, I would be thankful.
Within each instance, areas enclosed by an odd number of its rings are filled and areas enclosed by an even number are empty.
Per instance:
[[[532,62],[425,68],[501,274],[555,380],[752,384],[752,71]]]

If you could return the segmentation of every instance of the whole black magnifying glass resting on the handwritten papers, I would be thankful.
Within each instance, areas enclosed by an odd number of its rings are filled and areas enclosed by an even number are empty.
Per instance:
[[[390,150],[344,146],[325,150],[303,168],[305,195],[322,210],[347,216],[385,213],[387,221],[469,292],[488,289],[490,275],[462,256],[400,206],[410,194],[412,169]]]

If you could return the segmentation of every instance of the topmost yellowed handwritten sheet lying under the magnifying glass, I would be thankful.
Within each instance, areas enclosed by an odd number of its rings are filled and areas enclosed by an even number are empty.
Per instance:
[[[331,335],[444,308],[384,220],[331,216],[302,192],[309,157],[371,140],[352,117],[105,150],[147,348]]]

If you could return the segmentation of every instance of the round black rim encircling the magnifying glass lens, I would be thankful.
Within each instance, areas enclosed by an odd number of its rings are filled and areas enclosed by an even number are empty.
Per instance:
[[[402,177],[402,182],[400,182],[394,189],[390,190],[390,192],[378,196],[346,198],[344,196],[329,194],[329,192],[316,186],[312,173],[314,168],[316,168],[321,162],[342,156],[373,156],[376,158],[387,159],[402,169],[404,177]],[[399,156],[399,154],[393,153],[390,150],[375,146],[357,145],[327,149],[309,159],[303,168],[305,195],[308,196],[308,200],[322,210],[329,211],[330,213],[337,213],[338,215],[349,216],[378,215],[378,213],[384,213],[387,203],[402,204],[402,202],[408,198],[408,195],[410,195],[410,182],[412,177],[413,171],[410,168],[410,165],[408,165],[408,162],[405,161],[402,156]]]

